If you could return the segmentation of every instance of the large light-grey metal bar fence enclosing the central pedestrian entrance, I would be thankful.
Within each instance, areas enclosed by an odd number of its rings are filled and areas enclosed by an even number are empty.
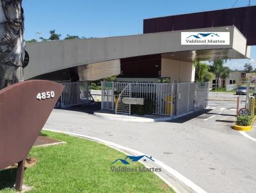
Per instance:
[[[153,106],[153,114],[179,116],[207,107],[209,82],[130,83],[102,82],[102,109],[131,114],[131,105],[122,99],[143,98]]]

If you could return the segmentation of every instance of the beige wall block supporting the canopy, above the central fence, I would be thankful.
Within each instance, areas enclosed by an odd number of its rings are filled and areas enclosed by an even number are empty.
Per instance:
[[[170,77],[170,82],[195,81],[195,67],[191,62],[162,58],[161,77]]]

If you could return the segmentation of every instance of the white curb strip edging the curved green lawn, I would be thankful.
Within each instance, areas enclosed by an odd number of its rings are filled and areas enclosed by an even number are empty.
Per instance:
[[[118,151],[126,150],[126,151],[134,153],[134,155],[145,155],[145,153],[142,153],[140,151],[132,150],[131,148],[126,148],[124,146],[121,146],[120,144],[116,144],[116,143],[106,141],[104,139],[99,139],[99,138],[96,138],[96,137],[91,137],[91,136],[88,136],[88,135],[75,134],[75,133],[71,133],[71,132],[61,132],[59,130],[51,130],[51,129],[45,129],[45,128],[43,130],[48,130],[48,131],[51,131],[51,132],[58,132],[58,133],[67,134],[67,135],[73,135],[73,136],[77,136],[77,137],[83,137],[83,138],[86,138],[86,139],[90,139],[92,141],[96,141],[98,143],[106,144],[107,146],[109,146],[111,148],[114,148]],[[122,151],[122,152],[125,153],[124,151]],[[127,153],[125,153],[125,154],[127,154]],[[189,180],[188,178],[186,178],[185,176],[180,174],[178,171],[176,171],[172,167],[167,166],[166,164],[164,164],[163,162],[161,162],[159,160],[156,160],[156,159],[154,159],[154,160],[155,160],[155,163],[158,166],[161,166],[164,170],[168,171],[168,173],[175,176],[175,178],[182,181],[182,183],[186,184],[188,187],[190,187],[195,192],[207,193],[204,189],[202,189],[201,187],[199,187],[198,185],[193,183],[193,181]]]

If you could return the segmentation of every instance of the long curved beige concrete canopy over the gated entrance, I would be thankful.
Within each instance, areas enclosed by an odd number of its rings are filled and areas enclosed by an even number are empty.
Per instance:
[[[151,54],[180,61],[248,58],[250,49],[246,38],[234,26],[184,31],[230,32],[230,44],[181,45],[181,31],[27,43],[30,61],[24,70],[24,79],[75,66]]]

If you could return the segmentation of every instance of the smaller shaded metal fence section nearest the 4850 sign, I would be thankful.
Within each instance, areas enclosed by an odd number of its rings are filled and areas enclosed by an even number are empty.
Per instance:
[[[87,104],[93,100],[90,95],[90,82],[62,82],[65,86],[61,94],[61,107]]]

